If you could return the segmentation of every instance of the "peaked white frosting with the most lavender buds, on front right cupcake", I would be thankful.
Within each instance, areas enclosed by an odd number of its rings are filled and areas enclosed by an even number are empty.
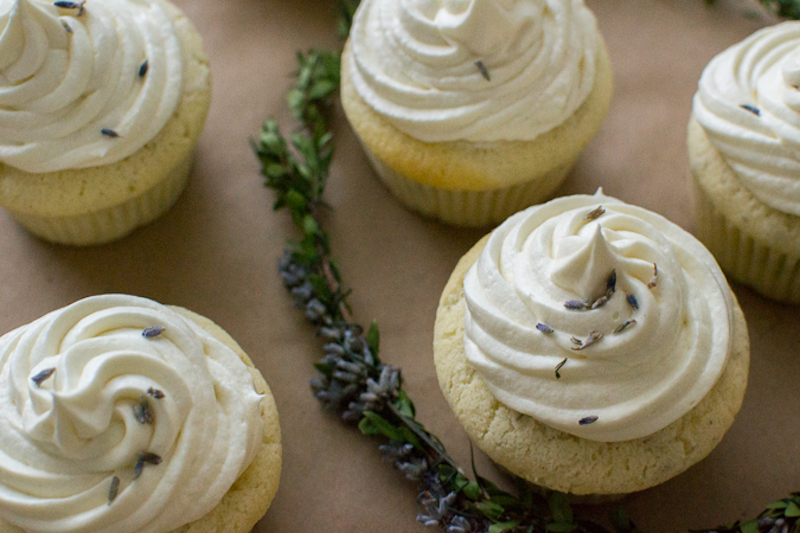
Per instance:
[[[598,206],[605,213],[586,219]],[[604,305],[565,305],[596,302],[608,285]],[[711,389],[730,350],[730,289],[711,254],[663,217],[600,192],[508,219],[464,293],[466,356],[494,396],[586,439],[630,440],[667,426]],[[592,332],[603,336],[586,343]]]

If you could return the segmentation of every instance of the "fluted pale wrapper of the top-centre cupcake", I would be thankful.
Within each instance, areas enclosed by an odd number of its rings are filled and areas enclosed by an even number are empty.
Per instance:
[[[379,159],[364,143],[362,146],[378,177],[406,207],[448,224],[464,227],[497,225],[517,211],[548,199],[575,162],[569,161],[535,180],[509,187],[483,191],[442,189],[403,176]]]

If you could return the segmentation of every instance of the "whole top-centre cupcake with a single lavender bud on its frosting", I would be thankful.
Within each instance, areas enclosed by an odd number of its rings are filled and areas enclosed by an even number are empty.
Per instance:
[[[364,0],[341,78],[347,118],[389,190],[460,226],[551,195],[611,97],[581,0]]]

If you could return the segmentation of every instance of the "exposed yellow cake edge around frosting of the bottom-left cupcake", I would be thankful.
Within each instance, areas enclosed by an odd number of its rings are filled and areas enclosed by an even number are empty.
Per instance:
[[[210,319],[188,309],[177,306],[169,307],[197,323],[215,339],[236,352],[253,376],[256,392],[264,395],[261,399],[264,437],[261,441],[261,448],[253,461],[208,514],[169,533],[247,533],[267,512],[278,491],[282,445],[275,399],[261,372],[255,368],[250,357],[225,330]],[[0,519],[0,533],[25,533],[25,530]]]

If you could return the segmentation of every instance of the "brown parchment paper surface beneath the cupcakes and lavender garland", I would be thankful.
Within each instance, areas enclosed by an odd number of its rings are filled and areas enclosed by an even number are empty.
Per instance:
[[[91,0],[90,0],[91,1]],[[258,533],[422,532],[415,484],[381,462],[378,442],[312,397],[320,342],[277,274],[286,213],[271,210],[248,139],[268,116],[292,127],[283,95],[295,51],[335,47],[335,0],[178,0],[209,52],[214,99],[188,189],[150,226],[101,247],[38,241],[0,212],[0,332],[92,294],[124,292],[187,307],[224,327],[270,384],[284,467]],[[685,127],[697,80],[716,53],[774,20],[748,0],[587,0],[615,73],[610,113],[559,195],[606,193],[691,229]],[[469,444],[439,392],[431,355],[437,300],[482,236],[423,219],[376,181],[338,110],[327,199],[333,249],[355,316],[381,326],[381,355],[404,371],[418,418],[469,468]],[[752,342],[742,411],[711,455],[621,503],[650,532],[755,515],[800,489],[800,308],[734,286]],[[478,467],[501,479],[485,458]],[[597,511],[602,516],[603,509]]]

